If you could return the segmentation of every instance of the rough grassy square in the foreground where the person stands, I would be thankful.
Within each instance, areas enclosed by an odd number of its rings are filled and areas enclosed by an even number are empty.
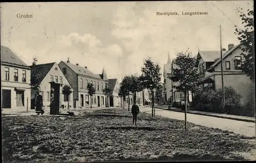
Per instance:
[[[245,160],[255,137],[140,113],[138,126],[122,109],[74,117],[3,116],[3,161]]]

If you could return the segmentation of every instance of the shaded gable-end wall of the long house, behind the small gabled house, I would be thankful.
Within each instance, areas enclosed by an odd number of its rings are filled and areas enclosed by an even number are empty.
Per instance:
[[[58,66],[61,69],[61,72],[62,72],[62,68],[66,67],[66,69],[67,69],[66,72],[67,73],[66,74],[62,73],[62,74],[66,77],[69,84],[73,88],[73,100],[78,99],[78,81],[77,81],[76,73],[69,66],[67,66],[65,63],[63,63],[62,61],[58,64]],[[72,107],[73,107],[73,105],[72,105]]]

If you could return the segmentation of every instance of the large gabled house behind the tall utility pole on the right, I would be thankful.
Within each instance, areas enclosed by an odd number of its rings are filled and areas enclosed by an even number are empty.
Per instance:
[[[241,55],[243,53],[241,48],[246,48],[246,46],[242,43],[236,46],[230,43],[227,51],[225,49],[222,50],[223,81],[225,87],[231,86],[239,92],[243,97],[241,103],[246,104],[251,96],[255,96],[253,91],[254,82],[242,72],[241,66],[244,62],[244,57]],[[199,73],[204,74],[202,88],[222,88],[220,51],[199,51],[196,67],[198,67]]]

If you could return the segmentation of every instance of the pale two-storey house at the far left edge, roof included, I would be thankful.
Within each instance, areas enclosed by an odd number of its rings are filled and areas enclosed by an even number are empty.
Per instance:
[[[6,46],[1,46],[1,90],[2,110],[30,108],[30,67]]]

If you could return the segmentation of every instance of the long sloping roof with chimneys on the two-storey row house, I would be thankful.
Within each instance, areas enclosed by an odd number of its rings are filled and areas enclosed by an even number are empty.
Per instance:
[[[63,62],[63,61],[61,61],[61,62]],[[69,66],[78,75],[90,76],[90,77],[94,77],[94,78],[97,78],[97,79],[102,79],[100,77],[100,75],[93,74],[86,67],[82,67],[82,66],[79,66],[79,65],[76,65],[76,64],[72,64],[72,63],[68,63],[68,62],[63,62],[63,63],[65,63],[67,66]]]

